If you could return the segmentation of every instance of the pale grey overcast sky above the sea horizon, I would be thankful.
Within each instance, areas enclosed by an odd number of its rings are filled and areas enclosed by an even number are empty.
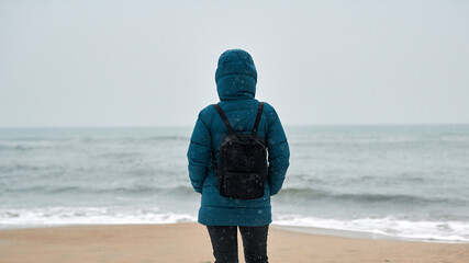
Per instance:
[[[287,125],[469,123],[466,0],[0,0],[0,127],[193,125],[230,48]]]

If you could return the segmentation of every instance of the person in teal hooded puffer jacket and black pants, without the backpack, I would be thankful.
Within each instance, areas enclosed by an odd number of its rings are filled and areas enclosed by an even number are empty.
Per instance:
[[[257,71],[250,55],[242,49],[224,52],[219,58],[215,81],[217,105],[233,129],[239,134],[253,133],[259,101],[255,99]],[[268,103],[263,104],[257,135],[266,142],[268,168],[260,198],[237,199],[220,194],[215,165],[222,139],[228,130],[213,105],[199,113],[190,139],[189,178],[193,190],[202,194],[198,221],[208,228],[216,263],[238,262],[238,228],[246,263],[268,262],[267,232],[272,221],[270,196],[282,187],[290,151],[276,111]]]

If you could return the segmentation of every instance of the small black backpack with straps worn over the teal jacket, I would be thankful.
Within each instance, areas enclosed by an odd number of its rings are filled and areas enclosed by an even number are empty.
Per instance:
[[[267,179],[267,151],[265,140],[257,136],[257,128],[264,103],[259,102],[252,134],[236,134],[220,105],[213,106],[228,129],[220,146],[219,165],[214,161],[220,194],[236,199],[263,197]]]

